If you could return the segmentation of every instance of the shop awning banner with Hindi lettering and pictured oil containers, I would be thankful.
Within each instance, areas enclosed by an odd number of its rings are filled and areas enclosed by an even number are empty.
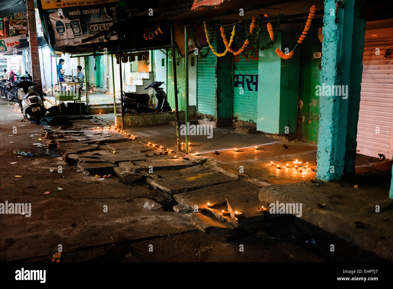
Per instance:
[[[42,6],[55,2],[42,0]],[[106,3],[105,5],[84,5],[87,3]],[[84,5],[84,6],[83,6]],[[92,36],[95,33],[108,30],[114,22],[117,21],[116,9],[119,7],[118,2],[110,0],[95,1],[56,1],[54,9],[43,11],[48,30],[52,28],[51,38],[54,38],[54,48],[61,46],[77,46],[82,44],[82,39]],[[100,37],[86,42],[105,42],[109,38]],[[110,40],[116,40],[117,36],[110,37]]]

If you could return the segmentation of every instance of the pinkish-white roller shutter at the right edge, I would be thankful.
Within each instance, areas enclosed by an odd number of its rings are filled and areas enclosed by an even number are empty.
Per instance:
[[[362,90],[357,134],[357,152],[361,155],[392,159],[393,59],[384,57],[393,40],[364,44]],[[376,55],[379,48],[380,55]],[[378,133],[379,128],[379,133]]]

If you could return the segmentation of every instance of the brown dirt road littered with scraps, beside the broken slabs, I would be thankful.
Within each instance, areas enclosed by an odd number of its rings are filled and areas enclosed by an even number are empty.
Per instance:
[[[77,172],[57,152],[32,145],[48,125],[21,123],[14,103],[0,99],[0,202],[31,203],[31,217],[0,214],[0,261],[51,261],[59,245],[61,261],[325,261],[290,238],[215,239],[145,182]],[[18,158],[15,149],[34,156]],[[148,199],[163,207],[144,209]]]

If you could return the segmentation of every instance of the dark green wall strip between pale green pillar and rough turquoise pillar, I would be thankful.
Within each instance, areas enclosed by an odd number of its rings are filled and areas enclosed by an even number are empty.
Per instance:
[[[315,95],[315,87],[320,84],[322,70],[321,58],[314,58],[314,52],[322,51],[322,43],[318,38],[321,19],[312,20],[307,37],[300,46],[300,79],[299,79],[299,112],[298,137],[304,142],[318,142],[319,96]]]

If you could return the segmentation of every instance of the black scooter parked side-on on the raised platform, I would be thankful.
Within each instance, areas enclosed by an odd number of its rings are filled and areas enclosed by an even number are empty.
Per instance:
[[[160,87],[164,84],[161,81],[154,81],[151,85],[145,88],[153,88],[156,91],[157,104],[154,109],[149,107],[149,94],[123,92],[123,110],[126,114],[137,114],[143,112],[163,112],[172,111],[167,101],[167,94]],[[121,98],[119,98],[121,100]]]

